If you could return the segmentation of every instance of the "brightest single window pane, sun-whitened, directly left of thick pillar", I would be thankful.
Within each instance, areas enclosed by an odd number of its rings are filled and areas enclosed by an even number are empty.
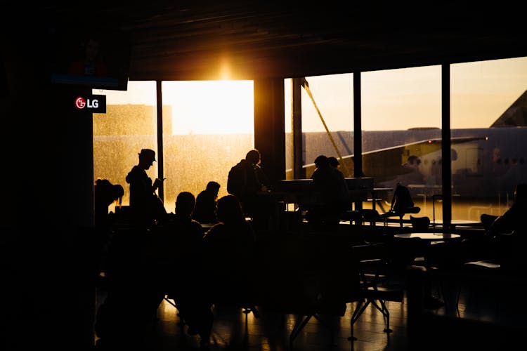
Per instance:
[[[211,180],[227,194],[230,167],[254,147],[252,81],[164,81],[164,204],[197,196]]]

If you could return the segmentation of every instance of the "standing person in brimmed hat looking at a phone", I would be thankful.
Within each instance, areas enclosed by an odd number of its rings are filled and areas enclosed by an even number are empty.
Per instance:
[[[134,219],[138,224],[149,227],[156,220],[164,220],[167,211],[160,197],[155,194],[162,180],[155,178],[152,183],[146,173],[155,161],[155,151],[143,149],[138,155],[139,163],[126,175],[126,183],[130,185],[130,208]]]

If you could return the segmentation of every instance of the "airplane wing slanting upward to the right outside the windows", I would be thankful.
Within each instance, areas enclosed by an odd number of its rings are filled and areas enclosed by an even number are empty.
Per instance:
[[[451,145],[483,140],[485,137],[457,137],[451,138]],[[363,152],[363,173],[372,177],[375,182],[384,182],[408,173],[403,165],[410,155],[422,157],[425,154],[441,150],[441,138],[420,140],[415,143],[386,147],[384,149]],[[342,157],[341,171],[345,177],[353,177],[353,155]],[[311,177],[315,171],[315,164],[306,164],[306,177]]]

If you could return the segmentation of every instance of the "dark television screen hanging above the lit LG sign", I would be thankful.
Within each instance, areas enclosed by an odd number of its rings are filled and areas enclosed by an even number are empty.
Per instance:
[[[126,91],[131,51],[126,32],[55,27],[48,34],[51,84]]]

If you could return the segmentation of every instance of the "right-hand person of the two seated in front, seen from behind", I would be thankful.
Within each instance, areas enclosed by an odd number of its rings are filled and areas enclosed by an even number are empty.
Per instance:
[[[252,224],[245,220],[242,206],[232,194],[218,200],[219,223],[203,237],[204,262],[214,300],[236,305],[253,296],[254,267],[250,264],[256,250]]]

